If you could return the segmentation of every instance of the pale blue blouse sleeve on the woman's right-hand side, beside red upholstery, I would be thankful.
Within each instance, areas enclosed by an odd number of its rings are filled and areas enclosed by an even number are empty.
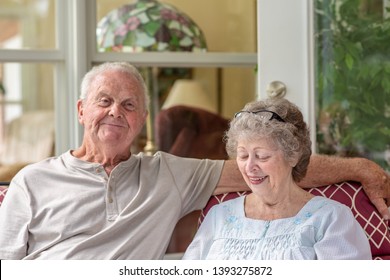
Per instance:
[[[370,260],[368,238],[345,205],[336,205],[335,211],[324,217],[314,244],[317,258],[322,260]]]

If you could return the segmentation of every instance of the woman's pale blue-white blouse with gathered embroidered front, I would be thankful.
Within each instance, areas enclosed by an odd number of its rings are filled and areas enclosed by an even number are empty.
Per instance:
[[[337,201],[316,196],[294,217],[264,221],[245,217],[244,200],[214,206],[183,259],[371,259],[364,230]]]

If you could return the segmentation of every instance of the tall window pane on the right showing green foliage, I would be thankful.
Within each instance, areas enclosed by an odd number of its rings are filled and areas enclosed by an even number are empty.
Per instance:
[[[320,153],[390,170],[390,19],[386,1],[316,0]]]

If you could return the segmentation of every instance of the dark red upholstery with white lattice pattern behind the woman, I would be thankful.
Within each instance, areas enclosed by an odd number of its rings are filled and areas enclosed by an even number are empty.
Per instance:
[[[380,214],[370,202],[360,183],[342,182],[323,187],[307,189],[313,195],[319,195],[339,201],[351,208],[356,220],[365,230],[370,242],[372,258],[390,260],[390,228],[381,219]],[[249,192],[234,192],[212,196],[201,211],[199,224],[210,208],[218,203],[245,195]]]

